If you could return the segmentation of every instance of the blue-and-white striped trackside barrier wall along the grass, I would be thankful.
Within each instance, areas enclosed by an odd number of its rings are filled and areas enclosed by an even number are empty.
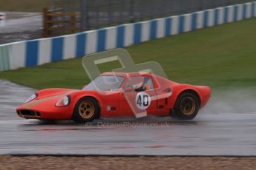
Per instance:
[[[100,30],[0,45],[0,71],[82,57],[154,38],[186,33],[256,16],[256,2],[122,24]]]

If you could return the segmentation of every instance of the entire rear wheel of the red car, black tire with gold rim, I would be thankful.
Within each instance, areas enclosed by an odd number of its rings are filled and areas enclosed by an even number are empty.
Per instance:
[[[200,108],[200,99],[191,92],[183,92],[177,98],[172,114],[182,120],[196,117]]]

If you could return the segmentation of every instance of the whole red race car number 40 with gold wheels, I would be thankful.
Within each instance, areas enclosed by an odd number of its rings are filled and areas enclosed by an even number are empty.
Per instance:
[[[190,120],[206,105],[208,86],[177,84],[158,75],[105,72],[82,90],[42,89],[16,109],[21,118],[74,120],[169,116]]]

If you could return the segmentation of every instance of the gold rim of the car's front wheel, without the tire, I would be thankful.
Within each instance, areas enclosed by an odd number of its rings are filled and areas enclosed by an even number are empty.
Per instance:
[[[91,101],[82,101],[82,103],[79,104],[79,115],[84,119],[91,118],[94,111],[95,108]]]

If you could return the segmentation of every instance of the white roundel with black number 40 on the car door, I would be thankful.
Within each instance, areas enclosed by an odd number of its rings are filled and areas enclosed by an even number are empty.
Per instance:
[[[148,93],[145,93],[145,92],[139,92],[136,95],[135,102],[136,102],[136,106],[139,109],[142,109],[142,110],[147,109],[151,103],[150,95],[148,95]]]

